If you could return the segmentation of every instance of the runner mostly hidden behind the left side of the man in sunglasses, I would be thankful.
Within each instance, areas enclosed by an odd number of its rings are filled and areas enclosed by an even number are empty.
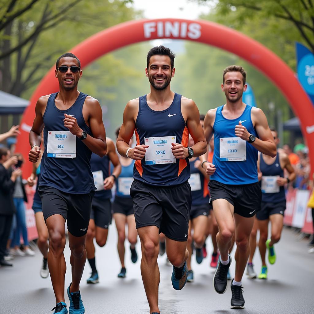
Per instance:
[[[44,132],[41,132],[41,143],[44,143]],[[40,164],[41,164],[41,158],[42,154],[45,151],[44,147],[41,147],[41,154],[39,157],[39,160],[33,164],[33,172],[31,175],[27,178],[27,184],[29,187],[33,187],[35,184],[35,180],[37,178],[37,184],[36,184],[36,191],[33,198],[33,210],[35,213],[35,221],[36,221],[36,228],[38,233],[38,239],[37,239],[37,246],[39,248],[39,251],[41,252],[43,259],[40,269],[40,275],[42,278],[47,278],[49,276],[49,270],[48,270],[48,249],[49,249],[49,235],[48,235],[48,229],[45,223],[44,216],[42,214],[42,206],[41,206],[41,198],[38,194],[38,186],[39,186],[39,180],[40,180]]]

